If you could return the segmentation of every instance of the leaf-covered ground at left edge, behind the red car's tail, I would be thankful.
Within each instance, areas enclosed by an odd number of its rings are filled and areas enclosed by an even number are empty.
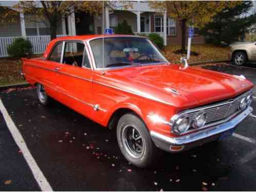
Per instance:
[[[21,59],[0,59],[0,86],[26,82],[22,75]]]

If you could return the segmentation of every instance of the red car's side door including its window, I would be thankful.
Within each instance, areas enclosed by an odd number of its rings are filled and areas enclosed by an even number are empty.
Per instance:
[[[92,68],[83,41],[65,41],[57,87],[61,100],[75,111],[90,117],[92,102]]]

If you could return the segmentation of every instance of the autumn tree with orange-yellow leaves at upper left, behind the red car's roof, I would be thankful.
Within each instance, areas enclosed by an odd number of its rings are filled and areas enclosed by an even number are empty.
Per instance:
[[[57,27],[63,17],[79,11],[99,15],[102,13],[103,5],[114,8],[115,3],[114,1],[104,1],[104,4],[103,1],[20,1],[11,9],[0,5],[0,9],[4,10],[0,11],[0,22],[7,25],[8,22],[17,22],[17,18],[20,19],[20,12],[29,14],[32,15],[29,17],[32,22],[45,23],[47,20],[50,25],[51,39],[54,39],[57,35]],[[123,3],[123,6],[126,8],[129,4]]]

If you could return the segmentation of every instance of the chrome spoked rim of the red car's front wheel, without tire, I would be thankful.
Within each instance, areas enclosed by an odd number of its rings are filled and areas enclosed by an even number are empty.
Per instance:
[[[134,125],[128,124],[123,128],[122,139],[124,148],[133,158],[140,158],[144,152],[144,141],[141,133]]]

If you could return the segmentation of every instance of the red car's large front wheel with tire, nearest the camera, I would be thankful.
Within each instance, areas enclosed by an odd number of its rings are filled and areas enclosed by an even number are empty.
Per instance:
[[[117,125],[117,140],[123,156],[138,167],[151,165],[157,153],[144,122],[134,114],[123,115]]]

